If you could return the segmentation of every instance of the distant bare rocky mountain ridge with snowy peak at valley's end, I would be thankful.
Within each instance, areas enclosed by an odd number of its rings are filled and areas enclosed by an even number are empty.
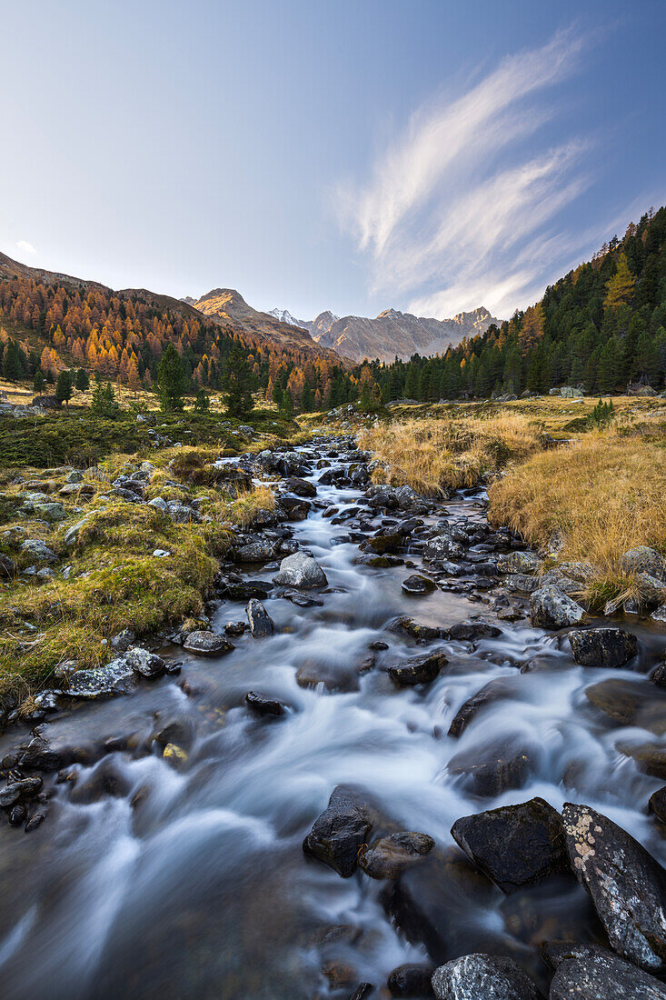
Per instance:
[[[307,330],[315,343],[356,363],[366,358],[391,362],[396,355],[407,360],[413,354],[426,357],[442,354],[465,337],[485,333],[492,323],[500,323],[483,306],[451,319],[414,316],[397,309],[385,309],[374,319],[341,318],[327,311],[314,320],[296,320],[288,310],[280,309],[273,309],[271,315]]]

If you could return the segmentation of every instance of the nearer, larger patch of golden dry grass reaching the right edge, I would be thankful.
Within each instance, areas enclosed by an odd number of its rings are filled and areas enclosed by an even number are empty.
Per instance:
[[[488,491],[489,517],[535,546],[560,531],[562,559],[592,563],[600,580],[621,580],[627,549],[666,551],[665,458],[643,436],[590,432],[512,465]]]

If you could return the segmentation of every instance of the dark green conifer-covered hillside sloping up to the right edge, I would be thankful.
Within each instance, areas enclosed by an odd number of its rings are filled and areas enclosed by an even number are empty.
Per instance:
[[[650,210],[540,302],[443,357],[414,356],[373,375],[385,400],[456,399],[553,386],[590,393],[654,389],[666,376],[666,209]]]

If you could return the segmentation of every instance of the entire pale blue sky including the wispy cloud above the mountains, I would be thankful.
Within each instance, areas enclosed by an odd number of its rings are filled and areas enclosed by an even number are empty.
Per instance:
[[[0,0],[0,251],[500,318],[666,201],[666,2]]]

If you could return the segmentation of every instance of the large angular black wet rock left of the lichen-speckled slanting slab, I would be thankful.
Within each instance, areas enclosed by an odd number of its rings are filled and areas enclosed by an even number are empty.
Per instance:
[[[463,816],[451,835],[502,892],[569,871],[562,818],[544,799]]]

